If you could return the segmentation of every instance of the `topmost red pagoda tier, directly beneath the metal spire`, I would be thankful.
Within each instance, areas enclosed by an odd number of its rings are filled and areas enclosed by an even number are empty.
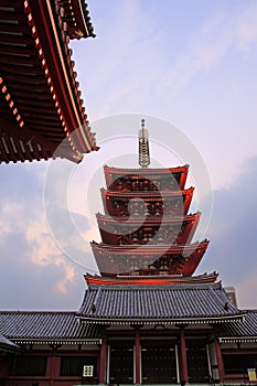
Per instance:
[[[189,165],[165,169],[120,169],[105,165],[104,171],[109,190],[144,190],[147,186],[153,190],[183,190]]]

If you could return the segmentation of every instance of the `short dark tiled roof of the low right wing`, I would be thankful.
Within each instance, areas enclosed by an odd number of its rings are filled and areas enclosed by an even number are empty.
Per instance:
[[[246,311],[244,321],[221,325],[218,336],[222,342],[257,342],[257,310]]]

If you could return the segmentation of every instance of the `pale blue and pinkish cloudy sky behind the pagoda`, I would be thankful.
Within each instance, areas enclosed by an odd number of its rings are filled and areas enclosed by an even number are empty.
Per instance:
[[[0,309],[77,310],[89,242],[99,240],[103,165],[137,165],[146,119],[152,165],[190,164],[193,211],[238,305],[257,308],[257,2],[101,0],[96,37],[72,43],[100,150],[68,161],[1,164]]]

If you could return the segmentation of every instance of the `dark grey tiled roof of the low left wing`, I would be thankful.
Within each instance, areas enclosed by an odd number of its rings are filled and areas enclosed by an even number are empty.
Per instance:
[[[0,331],[15,343],[100,340],[98,329],[79,324],[75,312],[0,311]]]

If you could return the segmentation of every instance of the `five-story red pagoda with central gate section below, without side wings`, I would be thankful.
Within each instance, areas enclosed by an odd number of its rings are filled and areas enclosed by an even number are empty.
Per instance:
[[[193,276],[207,246],[192,243],[201,213],[189,214],[189,167],[150,169],[148,132],[139,132],[141,169],[105,167],[103,242],[92,243],[100,276],[86,275],[78,318],[98,324],[100,384],[223,380],[221,323],[243,319],[217,275]]]

